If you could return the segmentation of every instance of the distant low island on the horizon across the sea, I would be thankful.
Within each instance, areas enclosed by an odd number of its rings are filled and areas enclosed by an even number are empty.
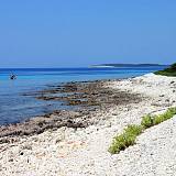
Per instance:
[[[161,64],[100,64],[91,65],[90,67],[153,67],[153,66],[168,66]]]

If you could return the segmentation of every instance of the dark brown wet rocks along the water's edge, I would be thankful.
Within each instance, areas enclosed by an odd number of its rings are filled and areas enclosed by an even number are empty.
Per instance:
[[[112,92],[111,89],[106,87],[109,82],[122,80],[124,79],[72,81],[59,84],[58,86],[50,86],[36,92],[24,94],[23,96],[33,96],[43,101],[62,101],[62,106],[73,108],[70,110],[55,110],[19,123],[0,125],[0,143],[9,142],[7,138],[13,139],[15,136],[40,134],[48,129],[55,130],[62,127],[73,129],[87,128],[100,120],[100,118],[92,118],[97,113],[100,117],[100,114],[106,113],[106,109],[114,105],[123,107],[139,102],[144,98],[138,94],[124,92],[122,90]]]

